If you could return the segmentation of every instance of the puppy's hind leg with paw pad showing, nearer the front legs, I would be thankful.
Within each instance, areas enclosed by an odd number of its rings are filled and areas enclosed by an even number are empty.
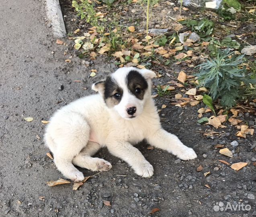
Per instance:
[[[82,151],[73,159],[73,164],[92,171],[108,171],[112,168],[111,163],[101,158],[92,158],[100,149],[98,143],[89,141]]]

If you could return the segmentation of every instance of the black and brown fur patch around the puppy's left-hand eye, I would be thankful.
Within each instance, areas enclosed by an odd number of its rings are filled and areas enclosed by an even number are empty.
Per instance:
[[[115,94],[119,94],[117,98]],[[113,107],[121,101],[123,96],[123,89],[118,86],[115,80],[111,77],[107,77],[105,81],[104,100],[109,107]]]

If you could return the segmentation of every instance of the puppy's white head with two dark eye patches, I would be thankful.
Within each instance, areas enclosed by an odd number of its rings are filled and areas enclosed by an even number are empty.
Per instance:
[[[150,70],[123,67],[104,81],[92,85],[106,105],[113,108],[124,119],[133,119],[143,111],[144,104],[151,97],[151,79],[156,74]]]

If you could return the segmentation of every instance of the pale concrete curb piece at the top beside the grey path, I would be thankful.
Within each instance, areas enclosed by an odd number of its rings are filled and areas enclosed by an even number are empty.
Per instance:
[[[54,37],[66,37],[67,33],[59,5],[59,0],[46,0],[46,9]]]

